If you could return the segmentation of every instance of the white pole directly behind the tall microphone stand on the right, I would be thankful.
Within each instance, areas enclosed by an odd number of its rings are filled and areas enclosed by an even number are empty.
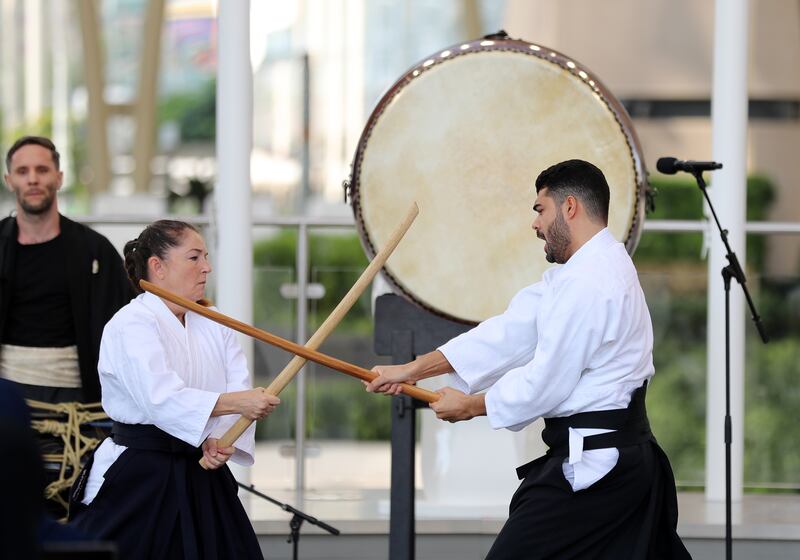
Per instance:
[[[748,0],[717,0],[714,91],[711,101],[715,188],[709,194],[731,249],[745,263],[747,191]],[[713,224],[711,224],[713,226]],[[728,264],[716,227],[708,259],[708,381],[706,397],[706,500],[725,499],[725,291]],[[744,464],[744,297],[735,280],[730,306],[731,499],[742,499]]]

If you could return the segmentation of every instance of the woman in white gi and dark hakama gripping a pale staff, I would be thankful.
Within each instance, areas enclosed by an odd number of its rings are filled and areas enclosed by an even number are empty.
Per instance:
[[[217,439],[235,415],[257,420],[280,400],[250,388],[230,329],[139,288],[202,300],[211,264],[193,226],[155,222],[124,252],[139,296],[106,325],[98,364],[113,435],[73,487],[70,520],[121,558],[262,558],[225,464],[253,464],[255,426],[235,447]]]

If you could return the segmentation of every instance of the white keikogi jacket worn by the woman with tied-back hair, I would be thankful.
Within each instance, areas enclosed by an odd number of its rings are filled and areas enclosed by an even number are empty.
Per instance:
[[[213,308],[212,308],[213,309]],[[187,311],[185,326],[157,296],[139,295],[108,322],[98,370],[106,413],[124,424],[153,424],[198,447],[220,438],[237,415],[211,417],[221,393],[249,389],[247,361],[235,333]],[[236,441],[231,460],[253,464],[255,424]],[[97,448],[83,503],[126,447],[111,438]]]

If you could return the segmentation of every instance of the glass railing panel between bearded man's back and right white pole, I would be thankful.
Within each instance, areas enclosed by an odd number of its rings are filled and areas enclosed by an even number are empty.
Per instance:
[[[653,320],[656,373],[647,413],[683,488],[705,479],[708,266],[702,244],[699,233],[645,232],[634,254]]]

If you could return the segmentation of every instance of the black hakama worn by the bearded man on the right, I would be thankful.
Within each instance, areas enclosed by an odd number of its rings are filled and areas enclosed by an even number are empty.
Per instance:
[[[676,532],[675,479],[650,433],[644,392],[634,392],[628,409],[545,420],[550,450],[517,470],[523,482],[487,560],[691,558]],[[584,438],[584,449],[619,449],[614,468],[584,490],[574,491],[562,469],[569,426],[617,430]]]

